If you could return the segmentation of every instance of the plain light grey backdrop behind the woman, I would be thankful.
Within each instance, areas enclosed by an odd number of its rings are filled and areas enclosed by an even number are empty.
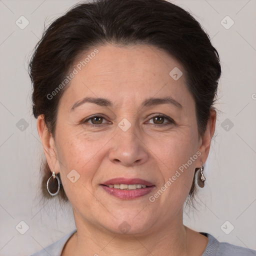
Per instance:
[[[197,209],[185,208],[184,224],[256,249],[256,1],[172,2],[201,23],[222,66],[215,105],[220,111],[204,168],[207,181],[199,189]],[[40,201],[43,152],[27,73],[44,23],[75,3],[0,0],[0,255],[30,255],[75,228],[69,204]],[[20,16],[29,22],[23,29],[16,24]]]

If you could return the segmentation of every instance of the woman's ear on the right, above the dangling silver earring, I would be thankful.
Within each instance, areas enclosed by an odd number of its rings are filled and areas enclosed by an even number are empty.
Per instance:
[[[216,124],[216,111],[214,109],[210,109],[210,116],[209,116],[206,130],[203,136],[199,140],[198,150],[201,152],[199,161],[202,162],[202,165],[203,163],[205,163],[209,154],[210,142],[215,131],[215,124]],[[199,165],[201,166],[200,162],[198,163],[198,167],[200,167]]]

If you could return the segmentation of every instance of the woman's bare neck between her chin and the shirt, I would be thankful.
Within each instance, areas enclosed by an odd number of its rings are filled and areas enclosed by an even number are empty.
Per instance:
[[[191,255],[187,227],[181,214],[168,225],[152,228],[146,234],[114,234],[75,217],[77,232],[72,238],[72,255]],[[74,214],[75,215],[75,214]],[[65,255],[65,254],[64,254]]]

